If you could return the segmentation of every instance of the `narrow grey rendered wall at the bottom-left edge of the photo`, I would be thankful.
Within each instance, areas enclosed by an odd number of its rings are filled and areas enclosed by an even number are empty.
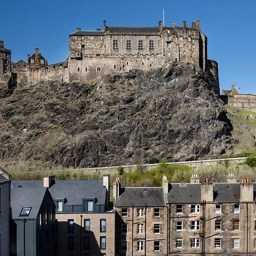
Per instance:
[[[1,255],[9,255],[10,183],[0,184],[2,199],[0,212]]]

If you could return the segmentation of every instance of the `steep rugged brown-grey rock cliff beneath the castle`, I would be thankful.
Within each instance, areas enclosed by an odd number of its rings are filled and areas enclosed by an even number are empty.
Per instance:
[[[0,98],[1,160],[96,167],[232,151],[224,106],[188,63],[85,84],[22,84]]]

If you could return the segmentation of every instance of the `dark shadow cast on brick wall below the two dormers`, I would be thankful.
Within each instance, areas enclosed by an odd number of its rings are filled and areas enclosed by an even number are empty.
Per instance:
[[[84,221],[84,218],[82,221]],[[100,230],[98,230],[99,242],[97,242],[94,232],[90,230],[95,225],[95,223],[90,222],[89,228],[87,228],[88,231],[86,231],[84,226],[77,225],[76,223],[74,223],[73,228],[69,228],[68,221],[58,222],[56,233],[57,255],[67,255],[67,253],[74,256],[86,255],[86,253],[88,255],[100,255],[100,236],[104,236],[105,233],[100,233]],[[100,229],[98,225],[96,226],[97,229]],[[102,253],[104,253],[104,250],[102,250]]]

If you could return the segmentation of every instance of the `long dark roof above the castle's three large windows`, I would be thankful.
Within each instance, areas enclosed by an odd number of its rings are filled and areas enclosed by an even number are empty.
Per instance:
[[[159,27],[107,27],[106,31],[112,34],[158,34]]]

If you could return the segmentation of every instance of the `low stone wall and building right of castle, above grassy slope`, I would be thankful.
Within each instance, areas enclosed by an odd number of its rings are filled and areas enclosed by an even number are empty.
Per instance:
[[[253,94],[240,94],[234,85],[232,85],[231,90],[222,90],[221,99],[225,104],[256,112],[256,96]]]

